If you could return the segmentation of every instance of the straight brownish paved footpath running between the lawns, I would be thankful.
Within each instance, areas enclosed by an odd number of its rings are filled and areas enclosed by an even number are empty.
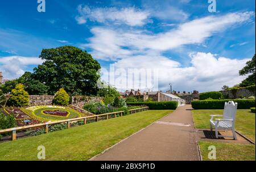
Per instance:
[[[200,160],[191,109],[177,108],[91,160]]]

